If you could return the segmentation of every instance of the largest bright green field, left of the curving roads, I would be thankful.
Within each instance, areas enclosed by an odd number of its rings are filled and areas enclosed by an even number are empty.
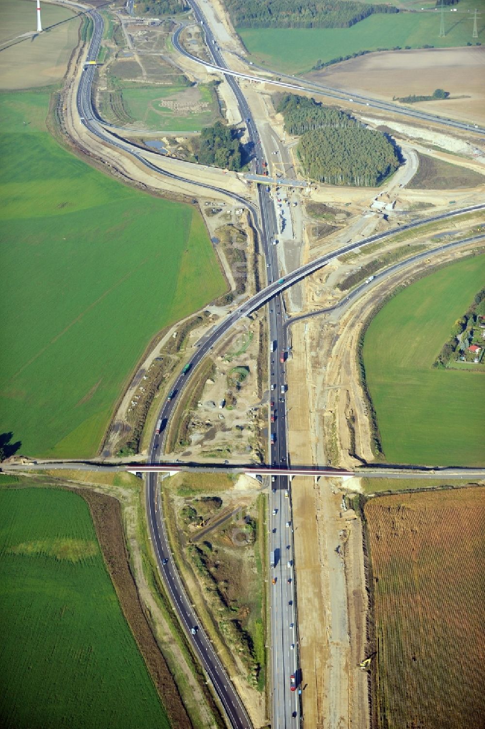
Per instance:
[[[225,290],[195,208],[93,170],[47,133],[47,93],[1,97],[0,432],[89,456],[156,332]]]

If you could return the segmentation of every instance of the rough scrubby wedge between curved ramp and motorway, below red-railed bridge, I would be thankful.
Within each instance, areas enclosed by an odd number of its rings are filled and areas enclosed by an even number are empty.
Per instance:
[[[257,576],[255,547],[246,529],[247,518],[257,517],[255,499],[261,492],[260,483],[241,476],[227,488],[225,477],[221,483],[215,476],[200,479],[195,475],[195,480],[192,476],[186,473],[171,477],[162,489],[174,558],[252,722],[261,727],[265,725],[265,693],[256,688],[257,673],[250,660],[246,632],[251,629],[248,621],[261,617],[258,591],[265,589]],[[204,482],[209,483],[209,489]],[[187,490],[195,494],[186,496]],[[214,504],[214,496],[221,499],[220,508]],[[211,500],[209,505],[203,503],[203,497]],[[198,512],[195,519],[185,516],[187,506]],[[225,510],[235,513],[229,521],[217,524],[220,512]],[[211,523],[214,529],[199,542],[198,533]],[[248,584],[255,588],[248,590]]]

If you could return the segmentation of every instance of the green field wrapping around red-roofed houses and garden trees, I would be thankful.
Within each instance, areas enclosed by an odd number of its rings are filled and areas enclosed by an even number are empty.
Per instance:
[[[391,463],[485,464],[485,380],[432,363],[485,278],[485,255],[422,278],[393,298],[365,335],[364,363]]]

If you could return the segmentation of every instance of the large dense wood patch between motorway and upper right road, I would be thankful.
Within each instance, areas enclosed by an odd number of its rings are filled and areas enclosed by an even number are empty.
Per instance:
[[[301,135],[297,152],[311,179],[376,186],[399,167],[395,147],[387,137],[346,112],[290,94],[282,98],[278,111],[283,114],[285,130]]]

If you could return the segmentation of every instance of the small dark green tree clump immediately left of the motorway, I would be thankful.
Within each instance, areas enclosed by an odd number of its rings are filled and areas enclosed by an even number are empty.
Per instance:
[[[203,129],[201,136],[194,141],[194,156],[201,165],[240,170],[243,164],[243,148],[236,128],[215,122],[212,127]]]

